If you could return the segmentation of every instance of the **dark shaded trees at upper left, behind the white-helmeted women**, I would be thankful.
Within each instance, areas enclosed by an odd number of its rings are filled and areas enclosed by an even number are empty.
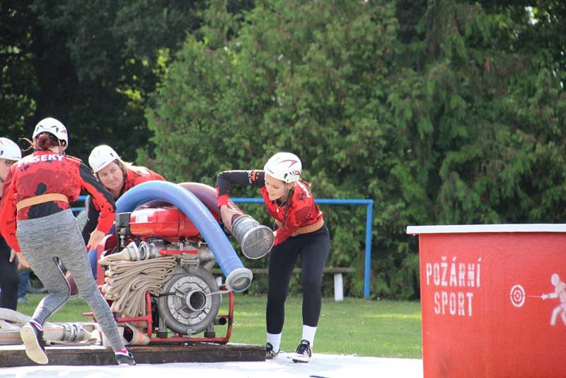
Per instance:
[[[0,62],[3,95],[19,98],[6,103],[11,136],[30,137],[35,122],[53,116],[69,129],[69,153],[86,159],[107,143],[134,159],[149,138],[144,107],[165,67],[159,51],[175,51],[197,28],[204,1],[20,3],[0,7],[0,51],[18,56]]]

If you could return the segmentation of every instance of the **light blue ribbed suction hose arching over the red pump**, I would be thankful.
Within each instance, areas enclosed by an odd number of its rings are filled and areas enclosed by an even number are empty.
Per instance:
[[[243,267],[216,219],[189,190],[166,181],[146,181],[134,186],[116,201],[116,212],[132,212],[137,205],[150,200],[171,203],[195,224],[226,276],[226,286],[230,290],[243,292],[250,287],[253,273]]]

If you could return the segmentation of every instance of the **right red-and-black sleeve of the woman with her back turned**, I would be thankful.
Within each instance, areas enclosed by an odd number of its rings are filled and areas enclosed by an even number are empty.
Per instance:
[[[116,212],[114,198],[110,192],[104,188],[104,185],[94,177],[91,169],[82,161],[79,165],[79,176],[81,186],[93,197],[93,200],[98,206],[98,210],[100,210],[96,229],[106,234],[110,231],[114,223],[114,214]]]

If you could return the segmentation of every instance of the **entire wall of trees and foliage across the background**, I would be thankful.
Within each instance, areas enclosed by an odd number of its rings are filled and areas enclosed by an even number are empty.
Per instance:
[[[375,200],[371,293],[412,299],[406,226],[564,222],[565,4],[3,1],[0,117],[60,115],[83,157],[108,142],[171,181],[294,151],[316,197]],[[361,295],[365,209],[321,210]]]

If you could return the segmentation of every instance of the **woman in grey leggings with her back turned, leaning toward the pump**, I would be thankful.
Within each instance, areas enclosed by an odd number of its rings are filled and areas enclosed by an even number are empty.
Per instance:
[[[54,118],[45,118],[33,132],[33,154],[13,164],[4,185],[0,207],[0,231],[8,244],[25,256],[49,292],[21,329],[25,353],[47,364],[43,324],[69,299],[70,288],[57,264],[61,260],[73,273],[81,297],[91,307],[100,328],[112,345],[119,365],[135,365],[125,348],[108,303],[98,291],[88,267],[81,231],[69,202],[81,188],[90,193],[101,212],[88,246],[100,242],[112,227],[115,203],[112,195],[80,159],[64,154],[69,145],[67,129]]]

